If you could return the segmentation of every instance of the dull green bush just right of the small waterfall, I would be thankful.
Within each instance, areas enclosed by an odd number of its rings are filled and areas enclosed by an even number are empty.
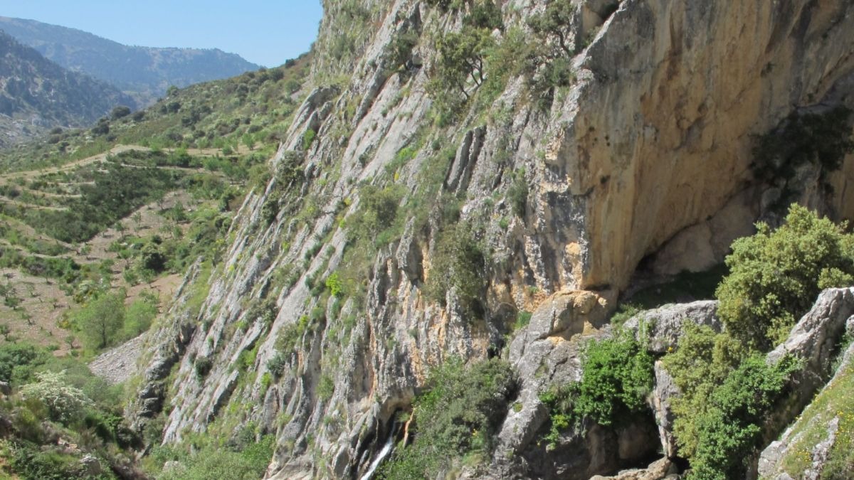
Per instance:
[[[449,360],[434,369],[414,402],[415,440],[395,449],[379,477],[435,478],[464,456],[488,460],[516,389],[516,375],[504,360],[471,366]]]

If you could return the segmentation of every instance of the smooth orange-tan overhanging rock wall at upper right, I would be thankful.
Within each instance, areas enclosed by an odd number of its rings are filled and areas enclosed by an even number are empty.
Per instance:
[[[553,161],[547,155],[555,176],[568,179],[555,187],[586,195],[580,287],[623,287],[641,258],[740,193],[751,134],[771,130],[792,105],[839,101],[854,72],[851,8],[621,3],[580,59],[594,80],[568,101]],[[850,160],[834,182],[848,181]],[[832,202],[850,216],[843,190]]]

